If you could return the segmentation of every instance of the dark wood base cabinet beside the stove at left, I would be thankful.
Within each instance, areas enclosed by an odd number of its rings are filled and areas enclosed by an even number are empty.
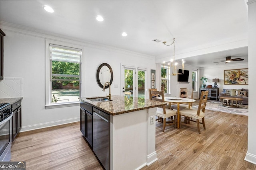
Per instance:
[[[12,142],[14,141],[15,137],[19,134],[20,129],[22,127],[21,121],[21,100],[12,104]]]

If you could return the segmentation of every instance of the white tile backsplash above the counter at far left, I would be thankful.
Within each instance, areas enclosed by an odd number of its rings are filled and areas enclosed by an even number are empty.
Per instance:
[[[0,80],[0,98],[23,97],[23,78],[5,77]]]

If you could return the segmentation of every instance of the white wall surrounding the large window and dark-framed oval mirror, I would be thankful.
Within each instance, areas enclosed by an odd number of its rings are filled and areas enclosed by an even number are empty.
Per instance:
[[[20,28],[1,25],[4,37],[4,77],[23,78],[22,131],[80,121],[80,107],[45,109],[45,39],[74,43],[85,47],[82,59],[82,97],[105,96],[96,82],[96,70],[102,63],[113,69],[112,95],[120,95],[120,64],[156,69],[154,57],[114,47],[100,47],[68,39],[52,37]],[[1,82],[0,82],[1,83]],[[150,87],[150,74],[147,74]]]

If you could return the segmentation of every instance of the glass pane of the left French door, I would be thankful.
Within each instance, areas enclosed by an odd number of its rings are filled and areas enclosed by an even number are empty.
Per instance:
[[[133,97],[133,70],[124,70],[124,95]]]

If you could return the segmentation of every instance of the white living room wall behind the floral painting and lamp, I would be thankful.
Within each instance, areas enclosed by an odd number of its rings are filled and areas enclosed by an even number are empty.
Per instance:
[[[248,68],[248,64],[224,64],[221,66],[216,66],[216,67],[211,67],[211,68],[202,68],[200,69],[200,76],[199,79],[202,76],[206,76],[206,78],[208,78],[207,82],[206,82],[206,86],[207,85],[212,85],[212,87],[214,86],[214,82],[212,82],[213,78],[219,78],[220,82],[217,83],[218,88],[219,88],[219,92],[222,92],[223,89],[248,89],[248,85],[234,85],[234,84],[226,84],[224,85],[224,70],[230,70],[230,69],[240,69],[240,68]],[[250,74],[249,74],[250,75]],[[252,79],[252,76],[250,76]],[[249,79],[250,79],[249,77]],[[202,84],[202,81],[200,81],[200,86]],[[250,93],[250,92],[249,92]]]

